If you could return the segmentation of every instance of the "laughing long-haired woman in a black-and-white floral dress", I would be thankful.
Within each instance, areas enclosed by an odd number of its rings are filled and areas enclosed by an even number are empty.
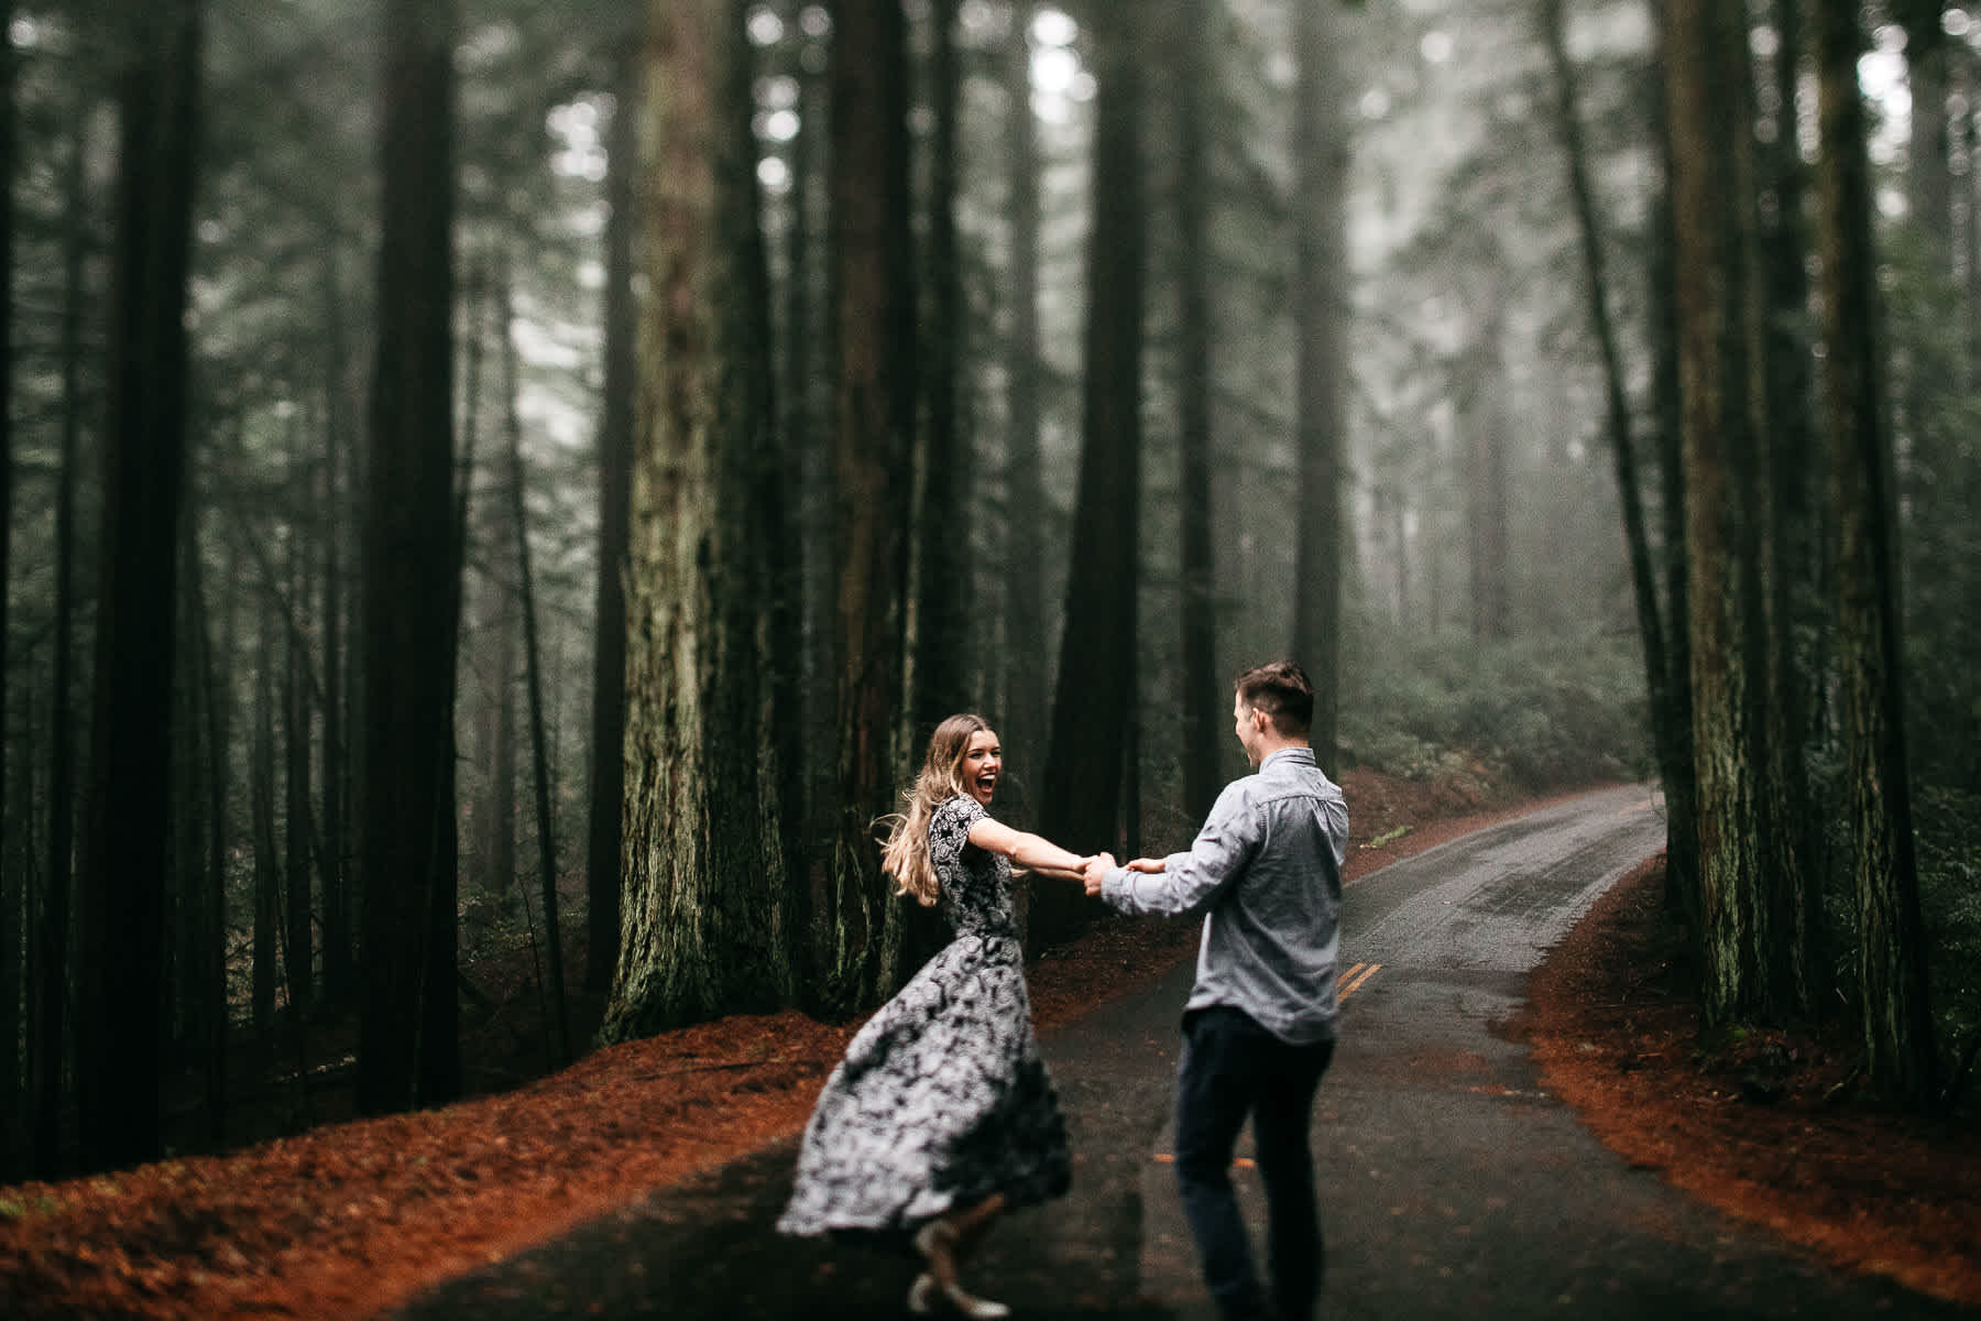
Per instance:
[[[1012,915],[1012,864],[1080,879],[1088,860],[992,820],[1002,751],[979,715],[951,715],[889,818],[882,869],[939,905],[955,937],[860,1028],[804,1129],[784,1234],[882,1230],[927,1260],[907,1293],[919,1315],[973,1297],[957,1264],[998,1214],[1066,1192],[1066,1121],[1032,1036]]]

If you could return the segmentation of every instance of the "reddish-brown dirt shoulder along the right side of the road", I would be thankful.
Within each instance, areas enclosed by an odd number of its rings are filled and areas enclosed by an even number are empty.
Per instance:
[[[1862,1089],[1850,1024],[1702,1032],[1662,883],[1660,862],[1618,881],[1531,974],[1517,1028],[1547,1089],[1692,1196],[1981,1307],[1977,1115],[1908,1115]]]

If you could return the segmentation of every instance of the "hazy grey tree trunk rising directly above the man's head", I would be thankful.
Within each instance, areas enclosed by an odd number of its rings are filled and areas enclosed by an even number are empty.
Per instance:
[[[1335,770],[1341,693],[1341,562],[1351,551],[1343,489],[1347,454],[1349,121],[1339,57],[1339,6],[1300,4],[1294,83],[1294,452],[1300,465],[1300,545],[1294,572],[1294,658],[1313,679],[1309,737]]]

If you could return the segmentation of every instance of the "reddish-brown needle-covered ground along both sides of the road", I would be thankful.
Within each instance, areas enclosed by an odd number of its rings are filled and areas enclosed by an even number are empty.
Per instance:
[[[1482,780],[1349,772],[1345,788],[1351,881],[1539,806],[1496,798]],[[1097,923],[1032,965],[1038,1026],[1147,984],[1189,957],[1195,935],[1195,923]],[[1854,1085],[1854,1050],[1838,1036],[1702,1036],[1688,986],[1646,865],[1549,955],[1508,1030],[1529,1042],[1549,1089],[1634,1165],[1842,1268],[1981,1305],[1973,1115],[1926,1121],[1882,1105]],[[527,1058],[529,1012],[503,1010],[521,998],[497,1000],[483,1022]],[[578,1022],[596,1022],[596,1006]],[[733,1016],[438,1111],[0,1186],[0,1315],[374,1315],[796,1133],[856,1026]]]

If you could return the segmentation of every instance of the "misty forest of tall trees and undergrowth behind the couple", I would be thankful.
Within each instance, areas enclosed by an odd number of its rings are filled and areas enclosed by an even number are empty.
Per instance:
[[[6,32],[0,1180],[487,1087],[497,982],[848,1020],[943,715],[1133,856],[1282,656],[1331,772],[1658,784],[1714,1022],[1969,1085],[1973,6]]]

